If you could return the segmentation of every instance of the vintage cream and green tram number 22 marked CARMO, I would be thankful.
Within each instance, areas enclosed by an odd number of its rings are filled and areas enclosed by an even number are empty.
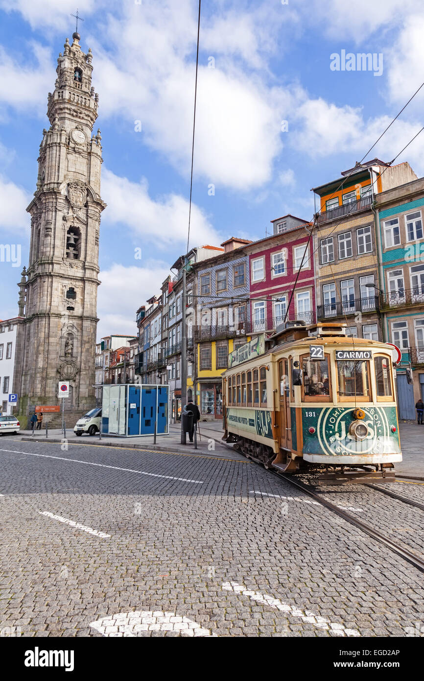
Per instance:
[[[393,347],[346,331],[293,322],[230,353],[223,439],[267,468],[321,469],[321,484],[393,480]]]

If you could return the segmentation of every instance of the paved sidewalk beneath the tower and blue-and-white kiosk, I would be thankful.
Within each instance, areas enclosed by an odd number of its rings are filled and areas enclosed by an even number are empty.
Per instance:
[[[149,449],[157,452],[178,452],[184,454],[199,454],[201,456],[216,456],[218,458],[227,458],[235,461],[244,461],[246,458],[242,454],[238,454],[233,450],[231,445],[226,445],[221,442],[223,435],[222,425],[213,427],[206,431],[202,426],[208,424],[200,424],[201,439],[197,434],[197,449],[194,448],[194,443],[189,442],[189,435],[186,436],[186,445],[181,444],[181,430],[180,425],[171,424],[169,428],[169,435],[158,435],[156,445],[153,443],[153,436],[143,437],[120,437],[111,435],[102,435],[99,439],[99,433],[90,436],[82,434],[77,436],[74,430],[66,430],[66,439],[69,443],[74,445],[97,445],[101,447],[125,447],[127,449]],[[212,424],[215,426],[215,424]],[[32,434],[31,430],[20,430],[19,434],[14,438],[16,440],[26,442],[46,442],[46,430],[35,430]],[[52,428],[48,430],[48,442],[61,443],[63,440],[63,430],[59,428]]]

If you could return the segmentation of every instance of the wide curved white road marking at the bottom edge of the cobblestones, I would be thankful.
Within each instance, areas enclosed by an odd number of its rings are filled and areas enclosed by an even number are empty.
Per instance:
[[[136,610],[135,612],[119,612],[110,617],[103,617],[95,622],[90,622],[90,627],[103,636],[137,636],[139,631],[179,631],[182,636],[212,636],[209,629],[203,629],[189,620],[174,612],[162,612],[158,610]]]

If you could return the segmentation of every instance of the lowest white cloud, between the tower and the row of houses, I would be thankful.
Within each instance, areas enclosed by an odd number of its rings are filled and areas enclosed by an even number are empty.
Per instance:
[[[135,310],[146,303],[167,278],[169,265],[146,260],[143,266],[113,264],[99,274],[101,285],[97,299],[97,338],[108,334],[137,334]]]

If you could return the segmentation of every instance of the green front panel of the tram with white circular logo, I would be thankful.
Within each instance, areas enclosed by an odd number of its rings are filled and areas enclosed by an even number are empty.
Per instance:
[[[367,427],[363,439],[349,433],[353,419],[353,409],[340,407],[323,409],[316,425],[316,434],[323,453],[330,456],[342,454],[379,454],[385,452],[385,445],[391,439],[391,427],[385,409],[364,407],[365,418],[361,423]]]

